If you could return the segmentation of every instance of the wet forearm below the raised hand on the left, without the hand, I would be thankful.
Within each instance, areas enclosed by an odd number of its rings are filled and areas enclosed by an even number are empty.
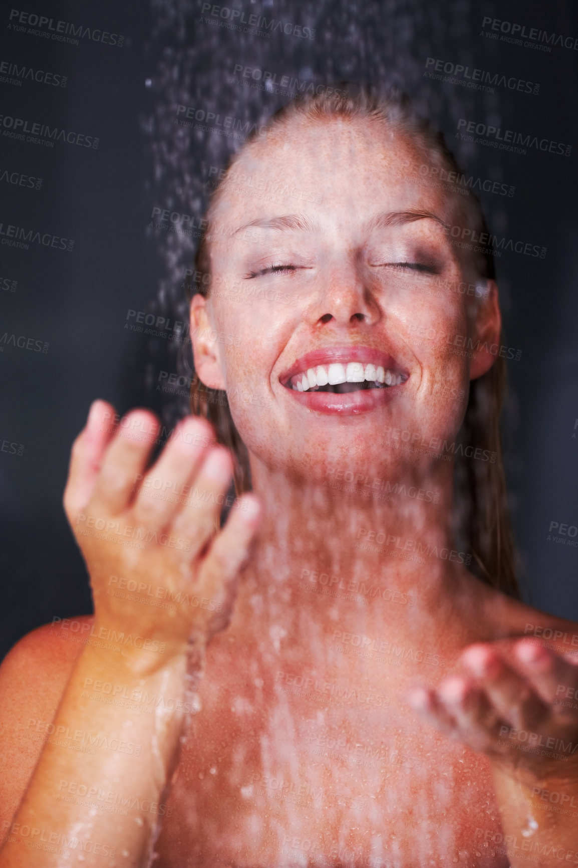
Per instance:
[[[55,719],[27,720],[43,752],[0,852],[0,868],[146,865],[178,760],[190,677],[183,657],[84,648]],[[188,687],[187,687],[188,686]]]

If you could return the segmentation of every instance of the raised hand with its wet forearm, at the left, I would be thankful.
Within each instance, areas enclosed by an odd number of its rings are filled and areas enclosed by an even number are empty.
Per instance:
[[[177,425],[147,470],[159,428],[142,410],[116,425],[114,408],[96,401],[76,438],[64,508],[89,570],[95,623],[54,719],[38,721],[45,738],[3,830],[2,868],[31,864],[35,834],[76,842],[87,868],[153,860],[159,816],[145,806],[166,796],[203,651],[227,625],[259,515],[256,498],[244,496],[219,529],[232,459],[200,419]],[[97,682],[110,695],[91,694]],[[68,781],[128,794],[137,807],[108,813],[64,800],[59,782]],[[44,847],[34,864],[56,868],[62,852]]]

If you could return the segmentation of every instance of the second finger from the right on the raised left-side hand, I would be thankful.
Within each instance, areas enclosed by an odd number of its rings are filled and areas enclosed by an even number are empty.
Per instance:
[[[228,450],[222,446],[209,450],[191,483],[185,506],[174,516],[172,529],[184,539],[191,561],[219,529],[220,508],[232,474],[233,459]]]

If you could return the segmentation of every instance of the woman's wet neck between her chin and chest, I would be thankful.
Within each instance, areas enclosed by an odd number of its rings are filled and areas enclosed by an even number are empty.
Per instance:
[[[247,600],[265,602],[261,621],[292,613],[326,628],[368,628],[373,618],[400,628],[411,616],[415,629],[444,621],[472,581],[450,528],[451,464],[397,482],[382,473],[312,483],[253,456],[251,470],[264,510],[244,588]]]

